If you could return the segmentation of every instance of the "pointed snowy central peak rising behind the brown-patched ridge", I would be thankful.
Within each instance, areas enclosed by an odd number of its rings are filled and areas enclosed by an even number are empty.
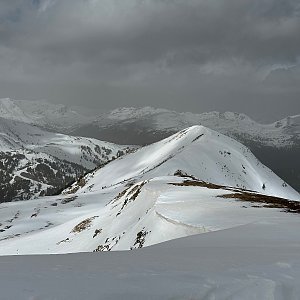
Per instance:
[[[206,182],[299,199],[299,194],[262,165],[248,148],[198,125],[111,162],[90,176],[78,192],[170,176],[178,170]]]

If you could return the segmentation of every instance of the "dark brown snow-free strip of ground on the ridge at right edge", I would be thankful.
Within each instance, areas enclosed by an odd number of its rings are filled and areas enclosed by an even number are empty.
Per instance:
[[[253,204],[252,207],[280,208],[288,213],[300,213],[300,202],[274,196],[267,196],[249,192],[239,192],[233,194],[220,195],[218,197],[225,199],[236,199],[243,202],[250,202]],[[258,203],[262,204],[262,206],[256,205]]]

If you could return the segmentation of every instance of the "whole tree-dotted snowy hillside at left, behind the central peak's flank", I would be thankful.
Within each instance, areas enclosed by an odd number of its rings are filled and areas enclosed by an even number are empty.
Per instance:
[[[127,150],[0,118],[0,202],[51,194]]]

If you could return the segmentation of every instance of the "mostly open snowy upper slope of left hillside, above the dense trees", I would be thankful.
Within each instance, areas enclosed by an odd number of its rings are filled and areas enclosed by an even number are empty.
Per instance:
[[[0,118],[0,151],[27,149],[93,169],[122,154],[126,146],[53,133],[26,123]],[[118,151],[119,154],[118,154]]]

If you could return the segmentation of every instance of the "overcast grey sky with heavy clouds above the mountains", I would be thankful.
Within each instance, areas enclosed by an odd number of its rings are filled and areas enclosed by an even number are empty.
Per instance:
[[[0,0],[0,97],[300,113],[300,1]]]

